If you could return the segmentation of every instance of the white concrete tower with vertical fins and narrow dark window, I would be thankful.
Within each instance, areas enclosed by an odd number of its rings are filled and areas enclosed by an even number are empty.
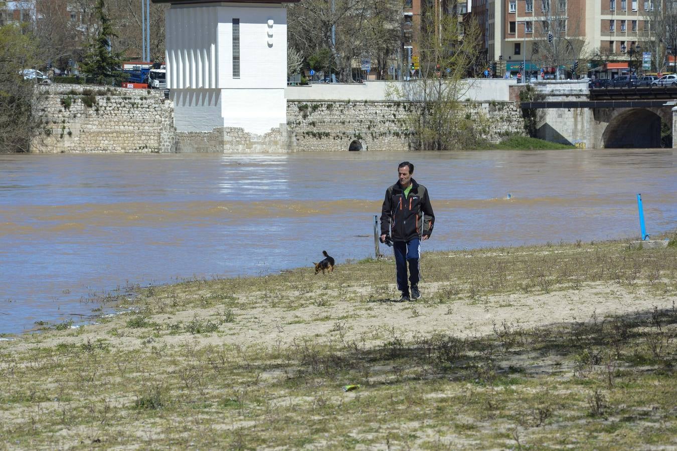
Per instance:
[[[287,18],[299,0],[152,0],[165,14],[167,88],[180,132],[286,125]]]

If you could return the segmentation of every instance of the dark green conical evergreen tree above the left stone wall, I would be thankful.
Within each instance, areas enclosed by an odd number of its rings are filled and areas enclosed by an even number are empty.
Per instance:
[[[125,73],[120,70],[122,66],[121,53],[110,50],[110,38],[117,37],[117,35],[113,32],[112,24],[105,9],[104,0],[97,0],[95,14],[101,24],[101,29],[80,65],[81,70],[100,85],[125,78]]]

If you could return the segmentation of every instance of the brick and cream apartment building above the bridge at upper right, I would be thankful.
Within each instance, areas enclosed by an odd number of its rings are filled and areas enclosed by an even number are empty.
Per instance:
[[[473,0],[473,17],[483,30],[487,64],[498,74],[515,76],[522,65],[527,73],[552,74],[543,51],[550,33],[554,42],[572,41],[576,53],[607,54],[620,74],[629,71],[631,57],[641,58],[637,45],[648,39],[658,6],[653,0]],[[576,56],[561,56],[561,70],[570,70]]]

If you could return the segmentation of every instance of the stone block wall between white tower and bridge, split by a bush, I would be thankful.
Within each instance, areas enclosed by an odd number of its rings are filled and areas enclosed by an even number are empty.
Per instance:
[[[287,101],[290,151],[408,150],[406,117],[417,103],[407,101]],[[460,111],[473,121],[476,133],[492,143],[506,135],[526,135],[515,102],[462,102]],[[419,149],[414,149],[419,150]]]

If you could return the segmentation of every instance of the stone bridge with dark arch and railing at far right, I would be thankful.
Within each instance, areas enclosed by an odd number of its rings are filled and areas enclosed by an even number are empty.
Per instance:
[[[587,80],[536,82],[537,136],[577,147],[677,147],[674,99],[590,100]]]

